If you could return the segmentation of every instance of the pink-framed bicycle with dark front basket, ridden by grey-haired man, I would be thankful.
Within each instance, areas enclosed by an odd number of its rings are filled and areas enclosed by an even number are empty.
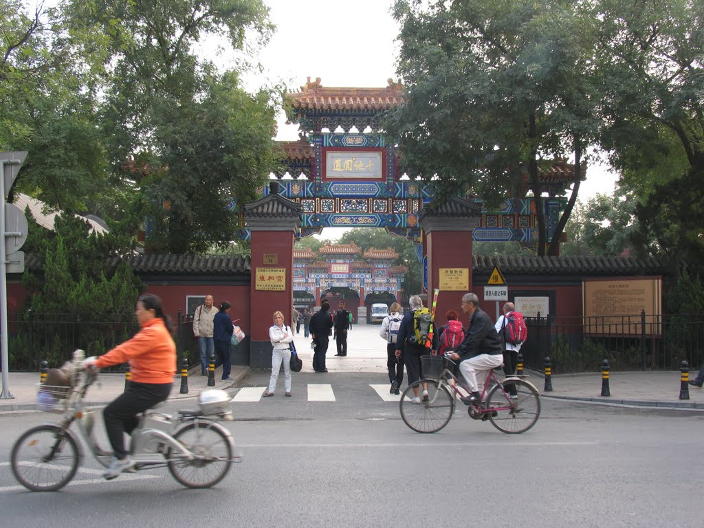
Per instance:
[[[455,412],[455,397],[463,396],[459,390],[460,382],[448,368],[455,363],[442,356],[421,356],[424,379],[408,386],[401,396],[400,410],[403,422],[419,433],[434,433],[445,427]],[[468,413],[474,420],[489,420],[496,429],[507,434],[520,434],[535,425],[540,416],[540,395],[536,387],[521,379],[511,376],[498,379],[494,370],[489,370],[484,381],[482,402],[470,405]],[[510,394],[508,387],[515,387],[516,397]],[[422,396],[420,403],[414,403],[413,388],[427,396]],[[489,391],[489,396],[486,396]]]

